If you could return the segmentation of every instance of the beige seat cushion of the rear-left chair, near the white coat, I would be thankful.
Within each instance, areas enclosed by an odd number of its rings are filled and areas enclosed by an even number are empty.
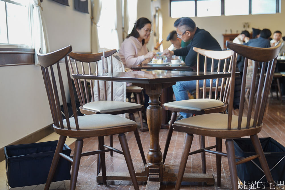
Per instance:
[[[122,111],[128,109],[141,108],[142,105],[130,102],[120,102],[120,101],[95,101],[89,102],[83,105],[83,108],[90,109],[94,111],[99,111],[100,113],[107,113],[113,111]]]

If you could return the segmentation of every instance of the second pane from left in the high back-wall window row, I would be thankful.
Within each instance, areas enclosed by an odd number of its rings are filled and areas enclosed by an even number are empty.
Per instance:
[[[221,0],[197,1],[197,17],[221,16]]]

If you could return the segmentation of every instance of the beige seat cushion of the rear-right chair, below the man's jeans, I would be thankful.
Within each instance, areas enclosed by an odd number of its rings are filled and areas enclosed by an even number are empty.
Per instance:
[[[196,110],[201,111],[203,109],[209,109],[214,107],[223,106],[224,103],[219,100],[214,99],[190,99],[190,100],[180,100],[174,102],[165,103],[165,107],[173,107],[178,109],[189,109],[189,110]]]

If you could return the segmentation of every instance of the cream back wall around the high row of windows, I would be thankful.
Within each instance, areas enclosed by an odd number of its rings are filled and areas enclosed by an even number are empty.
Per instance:
[[[169,1],[161,1],[162,14],[163,14],[163,38],[166,39],[169,32],[175,30],[173,24],[178,18],[170,17]],[[223,48],[223,35],[225,30],[227,34],[230,34],[230,29],[233,33],[240,33],[243,28],[243,23],[249,22],[250,28],[246,28],[249,32],[252,32],[253,28],[268,28],[273,33],[275,30],[280,30],[282,36],[285,36],[285,25],[283,24],[285,18],[285,0],[281,1],[281,13],[267,14],[267,15],[239,15],[239,16],[219,16],[219,17],[192,17],[196,26],[203,28],[210,32],[210,34],[219,42],[221,48]],[[163,47],[170,46],[170,42],[164,42]]]

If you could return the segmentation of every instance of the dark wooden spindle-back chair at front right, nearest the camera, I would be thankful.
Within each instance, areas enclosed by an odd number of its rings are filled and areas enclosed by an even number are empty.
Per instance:
[[[185,132],[186,139],[184,142],[183,153],[181,157],[181,162],[178,171],[178,177],[176,181],[175,189],[180,189],[181,182],[183,181],[183,174],[185,171],[187,159],[189,155],[200,153],[200,152],[209,152],[216,154],[217,162],[217,186],[221,185],[221,156],[227,156],[229,162],[229,169],[231,174],[231,183],[232,189],[238,189],[237,181],[237,164],[242,164],[247,161],[253,160],[255,158],[259,159],[259,162],[262,166],[262,169],[266,175],[268,181],[273,181],[269,167],[265,160],[264,152],[262,150],[260,141],[258,139],[257,133],[260,132],[262,128],[262,119],[268,99],[268,93],[270,90],[270,85],[272,82],[274,69],[276,66],[277,55],[280,51],[280,43],[272,48],[255,48],[250,46],[244,46],[235,44],[233,42],[227,41],[227,48],[233,50],[235,53],[240,54],[245,57],[244,64],[244,74],[242,79],[241,86],[241,99],[239,105],[239,115],[232,115],[233,113],[233,95],[234,95],[234,84],[235,84],[235,68],[236,68],[236,58],[234,57],[233,66],[232,66],[232,75],[230,81],[230,94],[229,94],[229,105],[228,105],[228,114],[221,113],[211,113],[198,115],[195,117],[190,117],[174,122],[172,125],[175,131]],[[244,105],[244,95],[245,95],[245,80],[247,72],[247,59],[254,60],[254,70],[252,76],[252,83],[250,88],[249,95],[249,108],[246,117],[243,117],[243,105]],[[255,94],[255,80],[258,70],[258,62],[261,63],[261,77],[258,77],[258,87],[257,95],[254,100]],[[265,78],[265,65],[268,63],[266,76]],[[254,106],[255,103],[255,106]],[[211,136],[216,138],[216,145],[202,148],[194,152],[190,152],[193,134],[198,134],[202,136]],[[257,155],[250,156],[248,158],[242,158],[235,156],[235,149],[233,144],[233,139],[240,138],[243,136],[250,136],[255,151]],[[226,149],[227,154],[221,152],[222,150],[222,139],[226,139]],[[216,151],[210,149],[216,148]],[[190,152],[190,153],[189,153]],[[235,160],[239,159],[238,162]]]

